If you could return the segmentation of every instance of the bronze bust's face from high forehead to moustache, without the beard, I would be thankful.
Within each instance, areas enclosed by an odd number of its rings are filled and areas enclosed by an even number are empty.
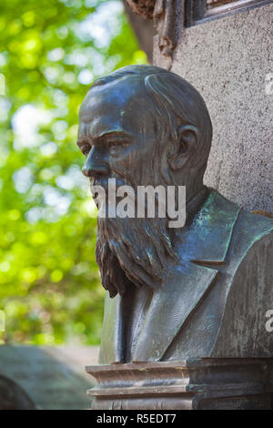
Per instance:
[[[116,178],[117,184],[147,185],[156,178],[155,107],[143,83],[127,79],[91,88],[80,108],[77,145],[86,156],[83,173],[96,184]]]

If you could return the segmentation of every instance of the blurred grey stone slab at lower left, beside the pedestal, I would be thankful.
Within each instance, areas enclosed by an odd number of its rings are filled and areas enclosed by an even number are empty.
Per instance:
[[[96,347],[2,345],[0,376],[21,387],[38,409],[86,409],[86,388],[94,382],[84,367],[97,356]]]

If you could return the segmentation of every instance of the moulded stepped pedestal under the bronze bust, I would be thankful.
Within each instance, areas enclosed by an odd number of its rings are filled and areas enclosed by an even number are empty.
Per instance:
[[[93,410],[272,409],[273,358],[197,359],[86,367]]]

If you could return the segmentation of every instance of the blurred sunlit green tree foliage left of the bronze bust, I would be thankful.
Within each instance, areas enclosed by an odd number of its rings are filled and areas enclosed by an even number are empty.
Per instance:
[[[97,344],[104,291],[77,113],[96,77],[147,58],[119,1],[1,0],[0,31],[0,341]]]

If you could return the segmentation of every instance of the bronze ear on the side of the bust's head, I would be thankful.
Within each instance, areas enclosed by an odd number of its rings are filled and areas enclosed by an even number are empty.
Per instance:
[[[183,168],[187,160],[191,158],[197,148],[199,130],[194,125],[178,127],[177,137],[176,152],[169,159],[169,164],[172,169]]]

